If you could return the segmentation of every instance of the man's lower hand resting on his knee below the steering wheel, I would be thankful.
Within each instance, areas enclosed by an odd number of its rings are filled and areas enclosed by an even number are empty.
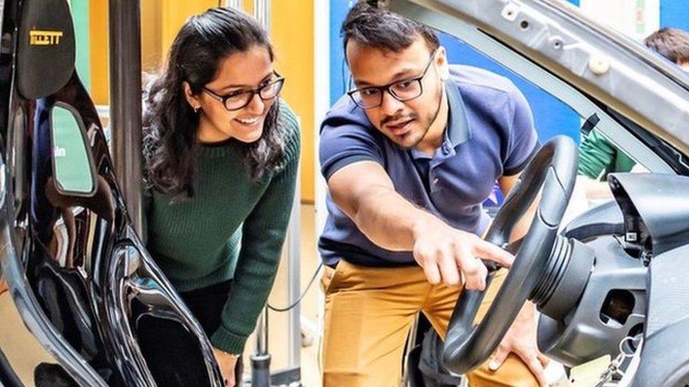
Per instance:
[[[515,355],[527,364],[541,387],[548,386],[544,374],[548,358],[539,352],[536,345],[536,310],[530,301],[527,301],[522,307],[510,330],[507,331],[500,345],[498,345],[498,349],[489,363],[489,368],[492,371],[500,368],[510,352],[515,352]]]

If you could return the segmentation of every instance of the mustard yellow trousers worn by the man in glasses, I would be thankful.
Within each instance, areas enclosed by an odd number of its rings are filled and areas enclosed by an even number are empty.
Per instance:
[[[479,318],[495,297],[504,272],[493,280]],[[400,386],[402,355],[414,317],[423,312],[442,338],[462,289],[431,285],[419,266],[375,268],[343,260],[326,267],[323,332],[324,387]],[[497,371],[488,362],[467,375],[476,386],[538,386],[516,355]]]

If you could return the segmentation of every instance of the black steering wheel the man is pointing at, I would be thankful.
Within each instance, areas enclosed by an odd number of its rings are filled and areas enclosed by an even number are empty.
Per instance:
[[[543,282],[541,275],[546,272],[576,173],[574,142],[566,136],[553,137],[539,149],[505,198],[486,235],[486,240],[503,248],[508,246],[513,228],[541,192],[538,209],[521,240],[515,262],[482,321],[473,324],[486,290],[464,290],[457,300],[443,349],[443,362],[448,369],[465,374],[486,362],[522,305]],[[499,266],[486,263],[489,266],[487,289]]]

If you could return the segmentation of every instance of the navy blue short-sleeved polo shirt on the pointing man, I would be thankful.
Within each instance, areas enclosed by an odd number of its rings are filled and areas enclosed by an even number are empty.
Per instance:
[[[480,68],[450,66],[445,83],[448,127],[433,156],[388,140],[347,95],[320,127],[320,165],[326,180],[357,161],[381,164],[395,190],[450,226],[481,235],[489,217],[481,203],[501,176],[520,173],[538,148],[531,109],[507,78]],[[327,197],[328,219],[318,248],[323,262],[364,266],[415,264],[412,252],[375,245]]]

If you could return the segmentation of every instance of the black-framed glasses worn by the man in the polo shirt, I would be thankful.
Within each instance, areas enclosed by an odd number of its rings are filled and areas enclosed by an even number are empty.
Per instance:
[[[424,79],[429,68],[431,68],[431,63],[433,63],[433,59],[436,58],[437,51],[437,49],[433,51],[429,63],[426,63],[424,71],[417,77],[396,80],[395,82],[383,86],[361,87],[361,89],[350,90],[347,92],[347,95],[352,98],[354,104],[357,104],[357,106],[362,109],[371,109],[381,106],[381,104],[383,104],[383,92],[390,93],[394,99],[400,102],[418,98],[421,94],[424,94],[424,85],[421,83],[421,80]]]

